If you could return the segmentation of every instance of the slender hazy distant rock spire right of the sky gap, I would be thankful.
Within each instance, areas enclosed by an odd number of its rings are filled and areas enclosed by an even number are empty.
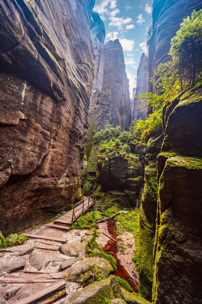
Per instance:
[[[149,91],[149,62],[148,57],[145,55],[145,53],[142,54],[140,58],[139,67],[137,69],[137,87],[135,95],[148,93]],[[142,101],[140,98],[134,98],[133,99],[133,113],[132,118],[133,119],[147,119],[147,107],[145,105],[147,104],[147,99]]]

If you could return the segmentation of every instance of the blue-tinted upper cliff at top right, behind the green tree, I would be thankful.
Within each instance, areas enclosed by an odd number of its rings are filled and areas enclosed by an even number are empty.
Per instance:
[[[171,38],[180,29],[183,18],[190,16],[194,9],[198,11],[201,8],[201,0],[154,0],[149,52],[149,78],[154,77],[150,87],[152,92],[160,93],[160,89],[156,88],[160,80],[154,76],[154,70],[169,60]]]

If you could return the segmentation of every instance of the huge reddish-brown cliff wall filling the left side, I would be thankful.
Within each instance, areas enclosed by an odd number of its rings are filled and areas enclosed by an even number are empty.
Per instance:
[[[0,3],[0,230],[70,208],[93,84],[95,0]],[[74,29],[77,29],[76,31]]]

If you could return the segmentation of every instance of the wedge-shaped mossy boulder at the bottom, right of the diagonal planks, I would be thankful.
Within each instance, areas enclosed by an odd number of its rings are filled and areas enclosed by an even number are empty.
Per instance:
[[[122,291],[114,275],[84,287],[71,296],[66,304],[102,304],[103,299],[123,299]]]

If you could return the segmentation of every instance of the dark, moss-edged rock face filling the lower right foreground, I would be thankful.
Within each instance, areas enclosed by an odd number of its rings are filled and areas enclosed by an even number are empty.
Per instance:
[[[153,301],[200,304],[202,90],[186,92],[170,102],[164,109],[164,118],[163,152],[157,159],[159,195]]]

